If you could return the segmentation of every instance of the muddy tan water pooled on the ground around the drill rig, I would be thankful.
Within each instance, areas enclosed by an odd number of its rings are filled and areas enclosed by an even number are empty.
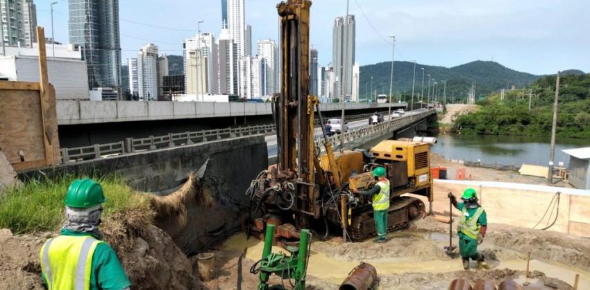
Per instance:
[[[398,232],[389,233],[388,237],[419,237],[421,239],[432,240],[437,244],[444,244],[448,241],[448,234],[444,233],[414,233],[414,232]],[[390,241],[391,242],[391,241]],[[317,243],[317,244],[316,244]],[[339,284],[346,278],[351,269],[357,266],[360,262],[369,262],[376,267],[379,275],[389,274],[403,274],[403,273],[447,273],[453,271],[462,271],[462,264],[460,259],[455,260],[433,260],[416,262],[412,257],[379,257],[375,260],[363,260],[363,261],[346,261],[339,259],[339,257],[329,256],[326,253],[315,251],[314,248],[318,248],[322,243],[316,241],[312,244],[310,264],[308,265],[307,273],[313,275],[319,280],[330,282],[333,284]],[[371,243],[363,242],[363,243]],[[369,245],[369,244],[368,244]],[[222,251],[244,251],[244,247],[248,248],[246,257],[251,260],[260,260],[262,257],[262,248],[264,242],[257,239],[250,238],[246,241],[246,235],[237,234],[226,240],[224,246],[221,248]],[[337,246],[337,244],[328,244],[328,246]],[[273,247],[273,252],[287,253],[282,248]],[[444,251],[441,247],[441,251]],[[514,257],[514,256],[513,256]],[[507,262],[496,262],[492,263],[495,269],[513,269],[513,270],[525,270],[525,262],[523,260],[509,260]],[[475,264],[473,264],[475,266]],[[559,278],[573,285],[573,279],[575,273],[580,273],[580,287],[579,289],[590,289],[590,273],[579,271],[578,269],[570,269],[566,266],[559,264],[553,264],[548,262],[542,262],[539,260],[531,261],[531,271],[537,270],[545,273],[548,277]],[[518,281],[525,282],[525,280]],[[534,280],[529,280],[533,284]]]

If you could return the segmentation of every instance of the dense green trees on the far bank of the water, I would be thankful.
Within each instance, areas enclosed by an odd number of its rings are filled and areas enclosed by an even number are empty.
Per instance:
[[[462,134],[550,136],[555,75],[541,78],[529,90],[507,91],[504,100],[492,93],[478,101],[481,109],[460,116],[453,129]],[[559,86],[557,136],[590,138],[590,74],[568,74]]]

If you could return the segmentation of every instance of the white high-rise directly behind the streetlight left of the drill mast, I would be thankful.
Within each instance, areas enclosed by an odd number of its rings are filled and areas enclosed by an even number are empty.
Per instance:
[[[188,58],[194,57],[189,55],[187,52],[201,52],[201,55],[204,58],[203,62],[207,64],[207,66],[205,67],[206,78],[204,89],[200,88],[199,91],[203,90],[204,93],[213,93],[212,87],[214,87],[214,83],[217,82],[216,78],[212,78],[213,75],[216,75],[216,73],[214,73],[214,64],[216,63],[215,57],[217,57],[217,44],[215,44],[215,35],[212,33],[198,33],[192,38],[185,39],[183,48],[185,71],[187,71]],[[197,62],[197,64],[199,64],[199,62]],[[201,69],[194,70],[195,73],[198,73],[199,71],[201,71]],[[185,73],[187,84],[190,82],[190,80],[188,80],[189,77],[202,78],[200,75],[191,75],[189,73]],[[187,89],[188,87],[189,86],[187,85]]]

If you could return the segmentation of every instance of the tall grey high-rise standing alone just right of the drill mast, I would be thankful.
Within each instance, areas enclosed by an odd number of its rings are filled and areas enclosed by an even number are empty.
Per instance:
[[[353,64],[355,63],[355,16],[336,17],[332,32],[335,98],[352,96]]]

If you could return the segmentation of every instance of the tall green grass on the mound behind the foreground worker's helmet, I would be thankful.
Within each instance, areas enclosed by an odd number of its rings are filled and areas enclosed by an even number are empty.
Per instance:
[[[0,228],[12,233],[55,231],[64,219],[65,192],[74,176],[56,180],[32,180],[0,195]],[[120,216],[121,212],[151,212],[149,199],[130,188],[121,177],[96,179],[101,183],[107,201],[103,219]]]

